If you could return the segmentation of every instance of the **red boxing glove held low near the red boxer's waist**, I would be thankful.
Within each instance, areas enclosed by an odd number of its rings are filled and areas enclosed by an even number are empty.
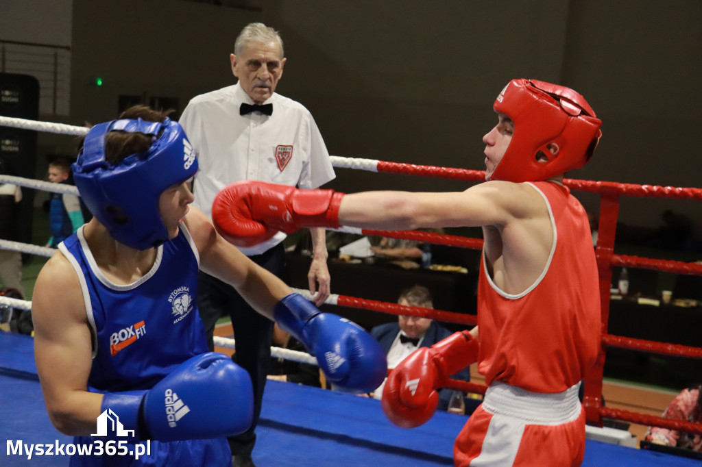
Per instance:
[[[385,381],[383,412],[393,424],[415,428],[425,424],[439,403],[437,388],[477,361],[477,340],[456,332],[431,347],[420,347],[395,367]]]

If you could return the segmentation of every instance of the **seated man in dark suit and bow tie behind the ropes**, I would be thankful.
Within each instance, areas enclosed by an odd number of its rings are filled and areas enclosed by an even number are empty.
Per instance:
[[[404,290],[397,300],[403,306],[419,306],[421,308],[434,308],[431,292],[423,285],[414,285]],[[376,338],[380,347],[388,356],[388,368],[395,368],[410,353],[420,347],[430,347],[438,341],[451,335],[451,331],[439,325],[430,318],[400,315],[395,323],[378,325],[371,329],[371,335]],[[470,381],[470,367],[451,376],[451,379]],[[373,391],[373,398],[380,400],[383,396],[383,384]],[[449,400],[455,391],[439,389],[439,410],[447,410]]]

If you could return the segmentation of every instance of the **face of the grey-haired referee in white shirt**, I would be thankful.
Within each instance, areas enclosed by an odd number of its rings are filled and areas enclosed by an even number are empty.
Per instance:
[[[286,59],[280,55],[280,46],[271,41],[246,44],[240,55],[232,53],[230,56],[232,73],[256,104],[273,95],[278,80],[283,76]]]

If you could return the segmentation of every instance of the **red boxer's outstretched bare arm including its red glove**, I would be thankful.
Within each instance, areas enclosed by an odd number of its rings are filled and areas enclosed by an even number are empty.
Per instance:
[[[517,219],[548,218],[546,204],[529,184],[485,182],[462,192],[411,193],[300,190],[247,180],[220,191],[212,206],[218,232],[247,246],[277,231],[340,225],[364,229],[505,227]]]

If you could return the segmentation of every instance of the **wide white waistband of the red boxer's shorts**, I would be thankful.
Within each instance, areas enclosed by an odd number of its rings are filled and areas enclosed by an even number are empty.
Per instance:
[[[562,393],[532,393],[494,381],[485,393],[483,409],[494,415],[522,419],[528,424],[557,425],[574,421],[581,411],[580,383]]]

